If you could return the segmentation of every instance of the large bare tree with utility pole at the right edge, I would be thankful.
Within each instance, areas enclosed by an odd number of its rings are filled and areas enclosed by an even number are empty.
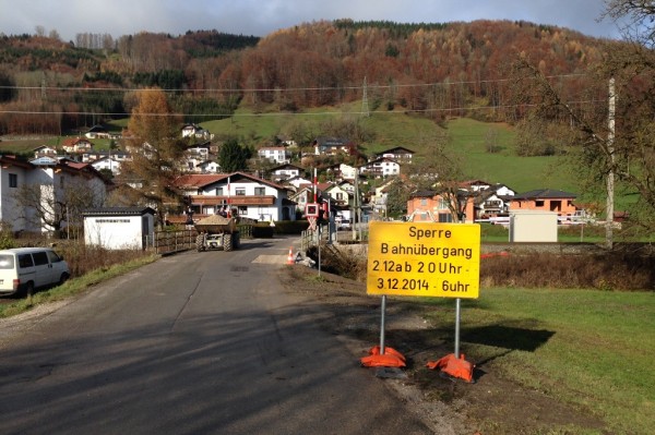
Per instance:
[[[627,19],[629,24],[622,25],[629,39],[606,44],[604,61],[590,68],[585,98],[567,95],[525,57],[515,63],[514,96],[526,107],[533,107],[533,113],[541,120],[569,126],[568,143],[577,145],[571,148],[571,160],[576,162],[580,178],[587,185],[608,185],[606,215],[614,208],[610,208],[614,193],[609,192],[609,180],[616,179],[618,189],[636,198],[627,205],[631,229],[636,233],[652,233],[655,230],[655,140],[652,135],[655,51],[651,47],[655,45],[655,7],[652,2],[629,0],[612,0],[607,4],[607,15],[615,20]],[[610,82],[614,93],[609,90]],[[598,102],[582,106],[573,102],[575,99]],[[616,122],[611,123],[610,101],[616,102],[612,111]],[[611,190],[614,192],[614,186]],[[612,216],[607,219],[610,221]],[[611,237],[608,230],[608,247],[611,247]]]

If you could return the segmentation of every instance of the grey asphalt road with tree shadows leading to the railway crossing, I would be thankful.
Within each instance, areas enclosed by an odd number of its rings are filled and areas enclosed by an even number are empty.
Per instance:
[[[284,293],[290,242],[164,257],[0,330],[0,433],[430,434]]]

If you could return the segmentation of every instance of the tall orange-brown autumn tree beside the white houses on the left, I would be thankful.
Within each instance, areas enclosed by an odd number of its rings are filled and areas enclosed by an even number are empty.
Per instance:
[[[184,153],[181,119],[171,112],[160,89],[141,90],[136,101],[128,124],[132,159],[121,166],[120,179],[131,186],[126,195],[134,204],[153,207],[163,225],[166,214],[177,212],[181,204],[174,186]]]

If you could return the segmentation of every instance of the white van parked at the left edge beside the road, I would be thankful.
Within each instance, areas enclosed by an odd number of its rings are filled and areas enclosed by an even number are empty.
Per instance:
[[[49,247],[0,251],[0,295],[32,294],[36,288],[62,283],[70,276],[68,263]]]

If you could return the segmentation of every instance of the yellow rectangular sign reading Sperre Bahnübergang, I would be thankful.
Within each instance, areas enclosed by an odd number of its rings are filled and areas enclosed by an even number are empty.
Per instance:
[[[369,223],[368,294],[478,298],[480,226]]]

